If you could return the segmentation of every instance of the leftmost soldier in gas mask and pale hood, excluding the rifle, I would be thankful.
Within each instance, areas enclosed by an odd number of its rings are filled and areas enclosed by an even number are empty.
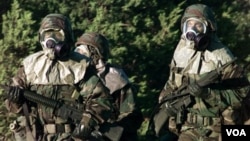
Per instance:
[[[73,52],[74,38],[68,18],[61,14],[47,15],[42,20],[39,39],[43,50],[26,57],[12,78],[11,88],[21,92],[11,89],[6,100],[10,112],[23,115],[15,121],[20,126],[15,129],[16,140],[88,140],[91,132],[112,115],[112,97],[89,67],[89,60]],[[81,122],[56,116],[57,109],[23,101],[24,90],[75,107],[82,104]]]

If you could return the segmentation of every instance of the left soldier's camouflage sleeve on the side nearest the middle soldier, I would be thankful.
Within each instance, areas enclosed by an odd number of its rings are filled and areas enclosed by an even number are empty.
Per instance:
[[[81,84],[85,114],[89,114],[97,124],[107,121],[113,113],[112,97],[100,79],[93,75]]]

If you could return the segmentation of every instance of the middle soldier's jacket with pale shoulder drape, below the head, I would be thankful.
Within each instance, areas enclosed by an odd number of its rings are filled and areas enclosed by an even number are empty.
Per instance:
[[[105,66],[99,77],[114,98],[118,116],[116,122],[124,127],[125,131],[136,133],[142,122],[142,114],[134,85],[122,69],[111,64]]]

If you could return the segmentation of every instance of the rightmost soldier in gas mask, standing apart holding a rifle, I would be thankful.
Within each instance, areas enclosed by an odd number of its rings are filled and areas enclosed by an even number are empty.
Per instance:
[[[181,31],[169,79],[159,96],[162,105],[150,129],[161,140],[220,140],[221,124],[241,122],[238,110],[249,82],[233,54],[218,39],[215,17],[208,6],[187,7]],[[172,100],[177,90],[189,95]]]

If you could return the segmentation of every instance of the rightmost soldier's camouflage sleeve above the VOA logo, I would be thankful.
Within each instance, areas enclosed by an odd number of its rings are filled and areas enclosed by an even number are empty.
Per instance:
[[[249,81],[244,69],[236,63],[227,66],[221,72],[221,77],[213,87],[211,96],[206,99],[210,105],[220,105],[224,124],[242,124],[248,101]]]

